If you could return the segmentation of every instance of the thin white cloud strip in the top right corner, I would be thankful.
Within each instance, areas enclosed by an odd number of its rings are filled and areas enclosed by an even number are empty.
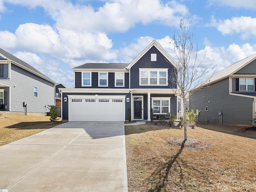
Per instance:
[[[233,8],[256,9],[254,0],[209,0],[210,4],[230,6]]]

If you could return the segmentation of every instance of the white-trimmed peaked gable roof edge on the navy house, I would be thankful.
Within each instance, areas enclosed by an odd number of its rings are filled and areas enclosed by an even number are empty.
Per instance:
[[[153,40],[134,60],[132,60],[132,62],[130,62],[130,64],[127,66],[128,69],[130,69],[138,60],[140,60],[140,58],[142,58],[142,56],[144,56],[144,54],[146,54],[146,52],[148,52],[148,50],[150,50],[150,48],[152,48],[153,46],[155,46],[160,53],[162,53],[166,59],[168,61],[170,61],[170,63],[177,68],[178,63],[166,52],[166,50],[164,50],[164,48],[162,48],[162,46],[160,46],[160,44],[158,42],[156,42],[156,40]]]

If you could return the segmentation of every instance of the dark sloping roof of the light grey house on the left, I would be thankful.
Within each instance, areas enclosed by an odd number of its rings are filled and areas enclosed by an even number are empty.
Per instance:
[[[16,66],[23,68],[24,70],[27,70],[28,72],[31,72],[35,74],[36,76],[39,76],[53,84],[56,84],[53,80],[48,78],[46,75],[42,74],[40,71],[32,67],[31,65],[27,64],[26,62],[20,60],[19,58],[15,57],[14,55],[6,52],[5,50],[0,48],[0,59],[1,60],[10,60],[12,64],[15,64]]]

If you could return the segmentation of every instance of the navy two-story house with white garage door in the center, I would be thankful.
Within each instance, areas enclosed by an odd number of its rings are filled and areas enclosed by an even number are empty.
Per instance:
[[[128,108],[132,120],[150,120],[150,108],[155,115],[177,115],[177,99],[168,76],[176,65],[154,40],[130,63],[75,67],[75,88],[60,88],[62,119],[125,121]]]

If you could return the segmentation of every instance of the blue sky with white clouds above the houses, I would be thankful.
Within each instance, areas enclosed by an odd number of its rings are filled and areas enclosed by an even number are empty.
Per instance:
[[[0,48],[72,88],[72,68],[129,63],[153,39],[176,59],[180,16],[216,71],[256,53],[255,0],[0,0]]]

